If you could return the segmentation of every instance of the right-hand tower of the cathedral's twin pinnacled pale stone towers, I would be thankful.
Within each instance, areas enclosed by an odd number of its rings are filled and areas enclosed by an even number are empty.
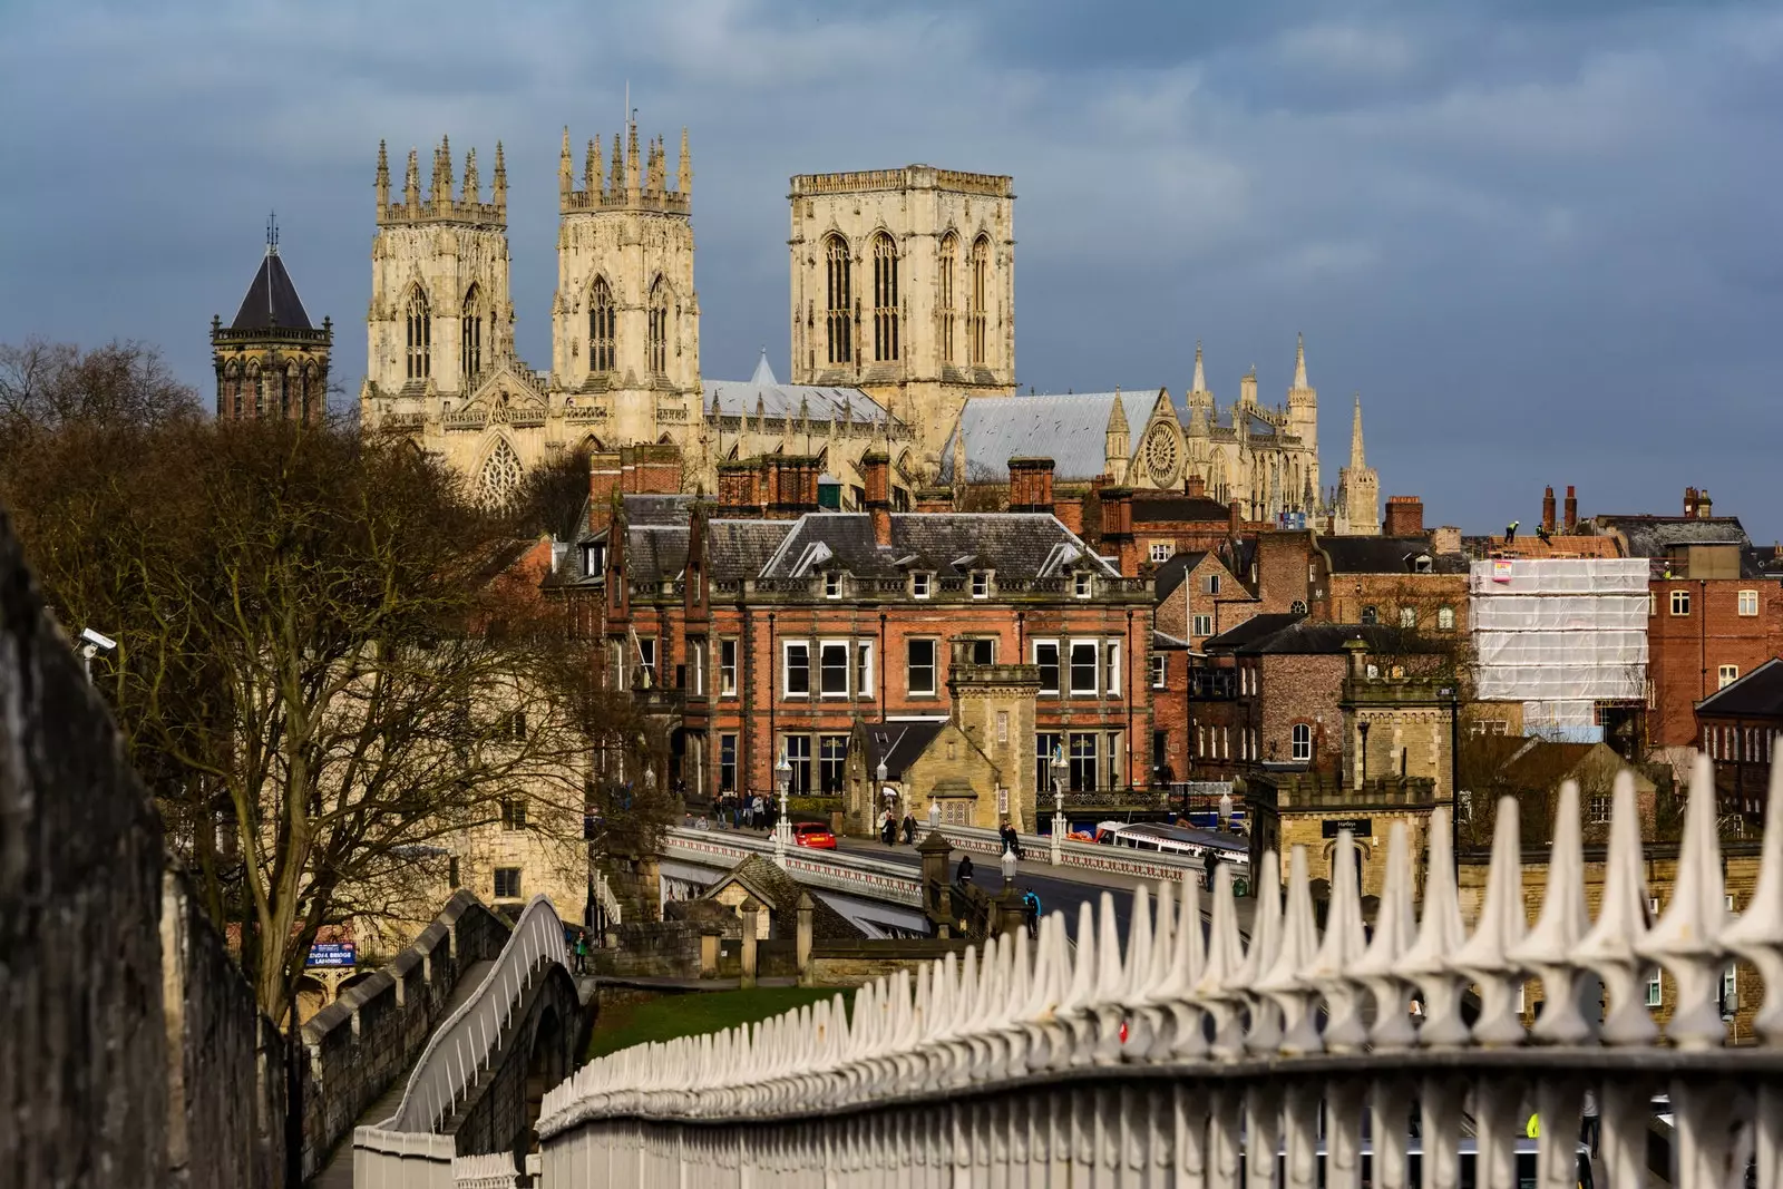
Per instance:
[[[683,128],[670,189],[665,141],[640,159],[638,125],[624,135],[613,135],[612,173],[601,139],[588,141],[578,189],[563,128],[551,373],[604,412],[603,440],[656,442],[701,417],[694,157]]]

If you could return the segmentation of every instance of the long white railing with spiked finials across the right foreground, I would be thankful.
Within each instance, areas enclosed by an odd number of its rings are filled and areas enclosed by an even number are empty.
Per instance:
[[[1783,765],[1738,916],[1724,904],[1706,761],[1651,925],[1626,772],[1596,918],[1571,783],[1533,927],[1514,799],[1498,809],[1471,931],[1446,809],[1428,825],[1421,914],[1396,822],[1373,931],[1341,834],[1323,929],[1296,847],[1286,897],[1278,856],[1259,870],[1248,945],[1221,866],[1205,934],[1196,882],[1164,882],[1134,895],[1125,936],[1111,897],[1100,914],[1084,906],[1075,955],[1052,914],[1034,947],[1016,932],[861,988],[852,1016],[838,996],[603,1057],[546,1095],[542,1184],[1261,1189],[1359,1185],[1366,1168],[1389,1189],[1417,1173],[1444,1189],[1587,1177],[1621,1189],[1647,1184],[1649,1093],[1662,1087],[1669,1184],[1783,1189]],[[1763,982],[1758,1039],[1744,1046],[1730,1046],[1717,1000],[1733,959]],[[1647,1007],[1653,966],[1676,986],[1669,1018]],[[1526,1029],[1532,977],[1548,1000]],[[1601,1018],[1583,993],[1594,980]],[[1582,1128],[1585,1091],[1596,1134]]]

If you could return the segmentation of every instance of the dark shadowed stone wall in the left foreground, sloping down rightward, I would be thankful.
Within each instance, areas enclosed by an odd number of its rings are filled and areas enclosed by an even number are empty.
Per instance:
[[[0,1184],[278,1184],[283,1050],[0,513]]]

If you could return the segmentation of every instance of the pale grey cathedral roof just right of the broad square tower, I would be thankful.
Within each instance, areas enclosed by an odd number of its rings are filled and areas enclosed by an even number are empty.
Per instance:
[[[1011,458],[1052,458],[1052,476],[1061,483],[1093,480],[1107,471],[1107,428],[1116,399],[1129,433],[1138,435],[1152,417],[1157,389],[972,398],[941,447],[941,483],[954,481],[954,439],[961,430],[965,478],[974,483],[1007,481]]]

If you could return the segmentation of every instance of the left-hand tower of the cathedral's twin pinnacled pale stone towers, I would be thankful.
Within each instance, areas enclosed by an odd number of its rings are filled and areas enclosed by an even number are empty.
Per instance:
[[[453,193],[451,144],[421,168],[408,150],[403,193],[390,201],[390,166],[378,143],[378,234],[371,244],[371,308],[366,314],[362,405],[380,414],[439,417],[471,398],[480,376],[514,355],[508,298],[508,171],[496,144],[490,201],[481,198],[476,150]],[[405,406],[385,406],[403,398]],[[424,401],[408,408],[414,401]],[[444,401],[444,405],[440,405]]]

